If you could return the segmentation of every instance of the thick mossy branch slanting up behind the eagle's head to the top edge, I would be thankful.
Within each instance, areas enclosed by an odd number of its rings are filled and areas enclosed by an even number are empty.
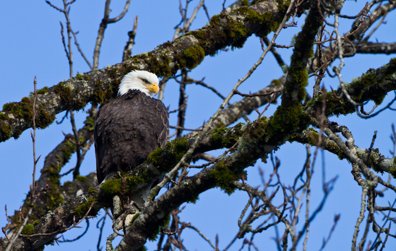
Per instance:
[[[269,0],[235,9],[230,14],[215,15],[201,29],[166,42],[148,53],[101,70],[77,74],[53,87],[39,90],[37,106],[41,107],[38,117],[41,117],[42,124],[38,126],[47,127],[59,112],[79,110],[88,102],[100,103],[114,97],[122,77],[131,70],[148,70],[160,77],[169,77],[179,69],[196,67],[204,56],[214,55],[227,46],[240,48],[253,33],[266,35],[276,29],[288,5],[287,1]],[[302,6],[299,9],[303,10]],[[28,103],[32,99],[25,97],[20,102],[3,106],[0,142],[10,137],[16,139],[32,126],[32,121],[27,119],[31,114]]]

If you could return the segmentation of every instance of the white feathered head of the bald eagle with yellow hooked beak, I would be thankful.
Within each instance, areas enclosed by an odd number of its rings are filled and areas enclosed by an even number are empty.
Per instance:
[[[152,98],[159,92],[158,77],[148,71],[133,70],[122,78],[118,86],[118,96],[129,90],[139,90]]]

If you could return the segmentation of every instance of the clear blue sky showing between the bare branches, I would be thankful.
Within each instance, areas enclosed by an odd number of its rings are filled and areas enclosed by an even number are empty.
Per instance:
[[[61,4],[59,0],[51,1],[54,5]],[[192,1],[190,10],[195,7],[197,0]],[[222,0],[210,0],[205,4],[208,7],[209,15],[218,14],[221,11]],[[230,4],[231,1],[227,1]],[[110,24],[104,35],[102,43],[99,68],[121,62],[123,48],[128,39],[127,32],[132,30],[135,15],[139,16],[139,24],[136,37],[136,45],[133,48],[133,55],[153,50],[156,46],[172,40],[174,27],[180,22],[181,17],[178,9],[177,0],[147,0],[132,1],[129,11],[125,17],[115,23]],[[347,1],[346,8],[342,12],[354,15],[360,10],[363,2]],[[122,10],[123,3],[114,1],[111,4],[112,12],[110,17],[118,15]],[[62,13],[49,7],[43,1],[4,1],[2,3],[3,14],[0,15],[0,103],[4,104],[11,101],[19,101],[22,97],[28,96],[33,91],[33,79],[37,76],[37,88],[53,86],[58,82],[68,79],[69,68],[65,52],[61,43],[59,21],[64,23]],[[92,61],[92,55],[99,23],[103,17],[104,1],[83,1],[77,0],[71,6],[70,18],[71,26],[74,31],[79,31],[78,42],[86,56]],[[191,13],[190,11],[190,13]],[[385,19],[387,24],[382,25],[373,35],[370,41],[375,42],[395,42],[396,34],[393,27],[396,24],[395,15],[391,12]],[[194,21],[191,30],[198,29],[205,25],[207,18],[201,9],[197,19]],[[298,19],[300,27],[304,18]],[[347,32],[350,28],[350,20],[343,20],[342,31]],[[299,31],[299,27],[290,27],[283,30],[277,40],[277,44],[288,45],[294,34]],[[329,28],[330,29],[330,28]],[[272,35],[269,37],[271,38]],[[283,59],[289,63],[292,49],[278,50]],[[205,77],[205,83],[215,87],[221,94],[226,96],[238,81],[257,61],[261,54],[259,39],[255,36],[250,37],[244,48],[237,50],[220,51],[213,57],[206,57],[202,64],[194,69],[190,76],[196,79]],[[88,72],[90,69],[79,54],[73,44],[74,56],[74,75],[77,72]],[[343,69],[343,80],[350,81],[353,77],[358,77],[369,68],[378,68],[389,62],[392,55],[356,55],[353,58],[346,58],[346,66]],[[335,62],[336,64],[339,61]],[[264,62],[257,68],[256,72],[240,87],[243,93],[255,92],[267,86],[271,80],[282,76],[282,70],[271,54],[268,54]],[[312,81],[311,81],[312,82]],[[326,88],[338,87],[337,79],[326,77],[323,82]],[[163,102],[166,106],[170,105],[170,110],[178,106],[178,84],[168,82],[165,87]],[[308,92],[312,93],[312,83],[308,87]],[[196,85],[187,86],[188,107],[186,116],[186,128],[196,128],[210,116],[221,104],[221,101],[211,91]],[[393,94],[390,93],[385,102],[392,100]],[[239,97],[232,101],[240,100]],[[279,100],[280,101],[280,100]],[[369,105],[368,105],[369,106]],[[368,107],[367,106],[367,107]],[[88,106],[87,106],[88,107]],[[275,110],[276,105],[270,106],[264,113],[270,116]],[[263,107],[259,108],[261,111]],[[369,108],[366,108],[369,110]],[[256,118],[253,112],[251,119]],[[64,113],[56,116],[60,120]],[[86,114],[83,111],[77,112],[77,126],[82,126]],[[170,124],[175,125],[176,114],[172,114]],[[339,124],[346,125],[352,132],[355,144],[361,148],[368,148],[371,143],[373,132],[378,130],[377,140],[374,147],[378,148],[386,157],[391,157],[389,150],[392,143],[389,139],[391,124],[395,123],[395,115],[390,111],[385,111],[374,119],[361,119],[356,114],[331,118]],[[43,166],[44,157],[57,145],[65,133],[71,132],[68,121],[58,125],[56,123],[45,130],[37,131],[36,152],[42,155],[38,162],[38,167]],[[314,151],[314,149],[311,149]],[[215,151],[213,154],[221,154],[222,151]],[[322,175],[322,154],[326,179],[338,176],[336,187],[326,202],[324,209],[311,224],[310,237],[308,239],[308,250],[318,250],[323,238],[326,238],[333,224],[335,214],[341,213],[341,219],[333,233],[332,239],[328,244],[327,250],[350,248],[350,240],[353,234],[353,227],[356,222],[359,208],[361,188],[354,182],[350,174],[351,165],[346,161],[338,160],[337,156],[330,153],[319,153],[319,160],[315,165],[314,180],[312,181],[311,211],[317,206],[322,196],[321,175]],[[274,153],[281,160],[280,174],[282,182],[291,185],[295,175],[301,170],[305,161],[305,148],[300,144],[286,143]],[[0,208],[7,204],[8,213],[12,214],[14,209],[18,209],[22,204],[32,183],[33,153],[30,130],[26,130],[18,140],[9,139],[0,144],[1,164],[0,169],[3,173],[0,189]],[[63,170],[68,170],[74,166],[75,156],[70,160]],[[272,172],[270,163],[257,161],[254,167],[249,167],[248,183],[252,186],[260,184],[258,178],[258,167],[262,168],[268,179]],[[96,168],[95,153],[89,151],[81,167],[81,173],[87,175]],[[383,179],[387,180],[387,175]],[[66,177],[62,181],[70,180]],[[392,181],[395,184],[394,180]],[[388,192],[388,197],[377,198],[380,205],[387,205],[387,201],[393,202],[395,196]],[[279,200],[275,198],[275,200]],[[243,192],[236,192],[227,196],[218,189],[207,191],[199,196],[196,204],[187,204],[181,213],[181,220],[191,222],[198,227],[211,241],[215,242],[216,234],[219,235],[219,246],[224,249],[232,240],[238,230],[237,218],[242,208],[247,202],[247,196]],[[276,203],[275,203],[276,204]],[[303,206],[304,207],[304,206]],[[4,213],[0,210],[0,215]],[[301,216],[302,217],[302,216]],[[380,215],[377,215],[380,217]],[[109,223],[109,219],[106,220]],[[302,218],[300,219],[302,221]],[[5,217],[0,216],[0,225],[5,225]],[[96,220],[91,220],[90,231],[80,242],[63,243],[60,247],[46,247],[46,250],[95,250],[99,230],[96,229]],[[84,226],[84,224],[82,225]],[[104,239],[110,233],[110,224],[107,224],[102,238],[101,246],[104,246]],[[65,238],[73,239],[78,236],[81,229],[73,229],[64,234]],[[363,232],[363,225],[360,233]],[[281,231],[281,234],[283,231]],[[395,226],[393,226],[395,234]],[[255,243],[259,250],[266,248],[274,250],[274,237],[272,230],[266,231],[256,237]],[[189,250],[208,250],[210,247],[193,231],[185,230],[182,235],[184,243]],[[90,240],[90,241],[87,241]],[[371,238],[373,240],[373,238]],[[302,243],[302,242],[301,242]],[[242,245],[242,240],[231,250],[238,250]],[[389,240],[387,247],[396,245],[395,241]],[[148,243],[148,249],[154,250],[155,243]]]

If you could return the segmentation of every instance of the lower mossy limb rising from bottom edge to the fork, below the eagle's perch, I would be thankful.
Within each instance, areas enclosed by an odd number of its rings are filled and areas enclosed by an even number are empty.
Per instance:
[[[250,130],[255,134],[262,133],[265,122],[259,122]],[[255,135],[250,132],[249,135]],[[243,135],[246,135],[245,133]],[[151,233],[157,231],[162,217],[178,208],[183,202],[195,202],[198,195],[213,187],[220,187],[227,194],[233,193],[232,182],[244,175],[244,169],[253,164],[257,158],[263,157],[276,146],[263,145],[260,139],[240,138],[238,149],[230,155],[222,157],[212,166],[203,169],[192,177],[186,177],[170,190],[153,201],[134,221],[119,246],[115,250],[139,250]]]

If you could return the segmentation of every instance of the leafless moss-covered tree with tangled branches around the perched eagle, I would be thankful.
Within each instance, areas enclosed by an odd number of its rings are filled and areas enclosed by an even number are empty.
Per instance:
[[[372,0],[361,9],[355,8],[355,12],[345,13],[345,0],[238,0],[228,7],[224,0],[219,3],[222,4],[222,12],[210,17],[204,0],[180,0],[181,21],[175,27],[173,41],[164,41],[148,53],[131,57],[137,33],[136,17],[133,30],[128,33],[127,45],[119,48],[124,51],[123,61],[103,69],[98,69],[98,65],[104,31],[107,24],[123,18],[130,0],[115,18],[109,17],[110,0],[106,1],[92,64],[82,52],[77,43],[77,33],[72,29],[69,11],[74,2],[63,0],[60,8],[47,1],[66,19],[67,36],[63,35],[61,23],[61,42],[69,62],[70,79],[46,90],[36,90],[34,85],[35,91],[30,98],[7,103],[0,112],[1,142],[10,137],[18,138],[22,131],[33,128],[34,144],[36,128],[46,128],[54,121],[55,114],[62,111],[69,111],[73,131],[72,134],[64,134],[64,140],[46,156],[37,181],[38,159],[34,155],[33,183],[25,203],[14,215],[5,208],[8,223],[2,228],[1,250],[37,250],[53,241],[60,242],[62,233],[81,227],[82,221],[89,226],[89,218],[97,216],[100,209],[111,207],[112,213],[104,209],[105,213],[98,222],[98,250],[103,238],[106,238],[106,250],[113,247],[123,251],[142,250],[146,242],[153,239],[157,239],[158,251],[187,250],[190,247],[185,247],[181,238],[186,229],[197,232],[213,250],[263,250],[256,245],[256,240],[258,236],[268,234],[267,229],[273,229],[271,233],[275,233],[273,239],[278,250],[294,251],[298,248],[305,251],[312,231],[311,223],[323,210],[337,180],[337,177],[326,179],[323,175],[320,186],[315,187],[322,190],[322,197],[318,203],[312,203],[312,182],[317,179],[313,173],[318,168],[316,162],[320,151],[335,154],[340,161],[348,161],[354,185],[361,188],[361,209],[356,212],[356,224],[348,237],[351,250],[384,250],[386,244],[396,238],[391,231],[396,223],[396,206],[392,199],[396,193],[393,185],[396,178],[394,125],[392,158],[386,158],[385,153],[374,148],[377,132],[373,133],[367,149],[359,148],[354,144],[351,130],[337,120],[339,115],[354,113],[365,119],[376,119],[379,113],[395,110],[393,102],[396,97],[389,103],[383,100],[396,90],[396,59],[383,62],[383,66],[364,74],[356,73],[356,78],[350,83],[343,80],[343,68],[347,57],[360,53],[396,52],[396,43],[392,41],[369,42],[378,27],[384,24],[384,18],[394,13],[396,2]],[[191,31],[198,11],[204,11],[208,24]],[[188,13],[192,14],[189,16]],[[352,25],[349,31],[341,33],[340,25],[345,20],[352,20]],[[297,27],[297,21],[303,25],[298,28],[299,33],[293,38],[293,43],[277,43],[278,35],[289,27]],[[201,79],[190,77],[190,72],[204,63],[205,56],[229,47],[242,48],[253,34],[259,37],[262,54],[244,77],[227,85],[227,96],[207,83],[204,76]],[[92,70],[75,77],[73,41]],[[291,51],[290,62],[285,62],[278,53],[281,48]],[[275,56],[284,75],[273,76],[271,83],[255,93],[238,90],[251,74],[258,71],[257,67],[268,58],[268,52]],[[169,80],[179,84],[177,107],[170,111],[177,114],[177,123],[171,126],[173,139],[164,150],[154,151],[134,170],[98,186],[96,173],[81,176],[79,167],[93,143],[92,131],[98,104],[114,98],[121,78],[133,69],[148,70],[162,77],[160,99]],[[339,88],[326,90],[323,84],[326,78],[336,78]],[[308,81],[314,82],[312,97],[307,94]],[[191,84],[211,90],[223,101],[214,114],[206,114],[206,123],[189,129],[185,127],[189,97],[186,86]],[[240,100],[231,102],[232,98]],[[374,107],[367,112],[364,106],[370,100]],[[87,119],[77,129],[79,125],[74,121],[73,110],[83,109],[90,102],[92,107],[88,110]],[[275,111],[268,114],[268,108],[275,103]],[[251,113],[256,114],[254,121],[247,117]],[[274,151],[287,141],[305,146],[304,163],[281,167],[281,160]],[[223,150],[217,151],[215,156],[208,153],[220,149]],[[62,171],[74,152],[77,163],[69,171]],[[246,174],[247,167],[259,159],[268,162],[271,171],[259,169],[261,184],[256,186],[249,184]],[[95,163],[92,166],[94,170]],[[293,180],[285,181],[280,175],[279,168],[296,167],[300,171]],[[189,174],[189,171],[195,174]],[[61,184],[60,177],[70,172],[73,172],[73,180]],[[389,173],[389,179],[384,179],[379,172]],[[129,195],[138,189],[136,181],[149,183],[160,176],[164,179],[151,189],[144,207],[128,218],[135,210]],[[236,219],[239,230],[222,247],[219,247],[221,236],[207,237],[195,226],[193,219],[183,219],[180,214],[184,210],[184,202],[195,202],[201,193],[213,188],[220,188],[228,195],[235,191],[246,194],[245,201],[238,201],[243,204],[240,217]],[[161,189],[162,194],[156,196]],[[378,197],[388,198],[389,204],[377,202]],[[106,219],[112,221],[112,234],[104,237],[102,230]],[[327,234],[321,249],[331,239],[339,220],[340,215],[335,215],[334,224],[323,227],[322,231],[326,229]],[[363,228],[363,234],[359,235]],[[84,238],[85,233],[75,240]],[[115,246],[113,240],[117,236],[122,240]],[[243,240],[241,247],[237,247],[238,239]]]

